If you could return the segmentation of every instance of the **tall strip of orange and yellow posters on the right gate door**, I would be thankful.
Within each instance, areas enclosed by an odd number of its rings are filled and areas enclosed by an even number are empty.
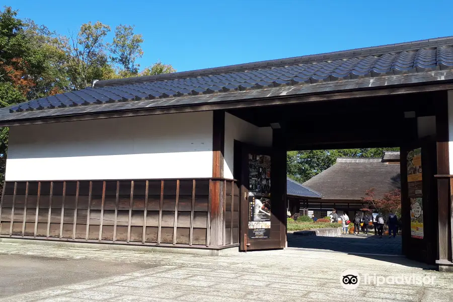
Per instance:
[[[408,196],[411,202],[411,237],[423,239],[423,182],[421,148],[407,154]]]

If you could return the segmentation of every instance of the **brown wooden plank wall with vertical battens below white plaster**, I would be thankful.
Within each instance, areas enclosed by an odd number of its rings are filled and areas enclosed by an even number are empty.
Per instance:
[[[0,235],[206,247],[209,183],[209,179],[6,182]],[[230,245],[239,242],[239,189],[234,181],[225,183],[223,241]]]

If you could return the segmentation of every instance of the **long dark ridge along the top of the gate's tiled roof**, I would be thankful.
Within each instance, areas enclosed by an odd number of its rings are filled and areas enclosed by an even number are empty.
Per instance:
[[[127,85],[135,83],[146,83],[166,80],[176,80],[183,78],[201,77],[210,74],[228,73],[233,71],[245,71],[248,69],[262,69],[270,67],[285,66],[288,64],[301,64],[310,60],[310,62],[316,61],[329,61],[336,59],[346,59],[349,57],[367,56],[367,55],[379,55],[386,52],[401,52],[417,49],[420,47],[434,47],[453,44],[453,36],[439,37],[425,40],[416,40],[403,43],[385,44],[379,46],[361,47],[348,50],[339,50],[332,52],[325,52],[319,54],[309,54],[303,56],[295,56],[282,59],[272,59],[264,61],[256,61],[249,63],[233,64],[219,67],[194,69],[188,71],[164,73],[157,75],[144,75],[141,77],[131,77],[125,79],[111,79],[111,80],[95,80],[93,81],[93,87],[104,87],[104,86],[115,86],[115,85]],[[391,50],[389,50],[391,49]],[[377,51],[379,50],[379,51]],[[317,60],[319,59],[319,60]]]

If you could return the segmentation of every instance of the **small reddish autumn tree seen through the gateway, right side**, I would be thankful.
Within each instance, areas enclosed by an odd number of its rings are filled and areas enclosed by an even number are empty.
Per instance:
[[[387,219],[390,212],[395,213],[398,218],[401,217],[401,190],[395,189],[387,192],[382,198],[376,198],[374,188],[365,191],[363,202],[368,203],[369,207],[378,210]]]

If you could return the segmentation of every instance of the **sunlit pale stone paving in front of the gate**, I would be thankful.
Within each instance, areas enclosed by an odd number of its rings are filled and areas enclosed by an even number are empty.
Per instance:
[[[401,257],[356,256],[303,249],[197,256],[15,243],[0,243],[0,255],[154,266],[12,295],[0,300],[2,302],[453,301],[453,274],[433,271],[428,265]],[[345,269],[383,276],[416,274],[435,277],[435,280],[427,286],[360,283],[357,289],[348,290],[340,285]]]

